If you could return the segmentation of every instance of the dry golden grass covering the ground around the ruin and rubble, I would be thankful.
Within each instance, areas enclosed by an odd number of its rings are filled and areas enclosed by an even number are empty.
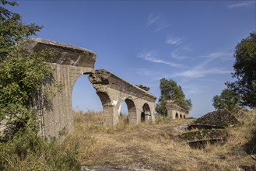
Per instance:
[[[206,145],[192,149],[178,141],[184,132],[179,125],[191,119],[168,120],[157,117],[156,124],[129,125],[125,117],[116,127],[103,126],[103,113],[75,112],[75,132],[65,141],[67,147],[79,145],[83,166],[153,170],[242,170],[243,164],[256,165],[256,110],[237,117],[240,125],[227,129],[225,145]],[[248,143],[249,142],[249,143]]]

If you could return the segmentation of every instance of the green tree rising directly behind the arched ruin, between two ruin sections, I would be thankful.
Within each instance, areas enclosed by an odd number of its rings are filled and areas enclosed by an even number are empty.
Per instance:
[[[177,104],[186,110],[191,110],[191,99],[186,99],[181,86],[177,86],[177,82],[171,79],[160,79],[161,96],[156,104],[156,112],[167,116],[167,109],[165,107],[167,100],[174,100]]]

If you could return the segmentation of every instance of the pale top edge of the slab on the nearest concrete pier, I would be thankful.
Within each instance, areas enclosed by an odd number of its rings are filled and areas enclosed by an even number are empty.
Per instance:
[[[53,47],[61,47],[61,48],[66,48],[68,50],[72,50],[72,51],[88,51],[89,53],[92,53],[96,56],[96,53],[93,51],[90,51],[89,49],[83,48],[83,47],[75,47],[73,45],[70,44],[63,44],[54,40],[47,40],[47,39],[42,39],[42,38],[29,38],[26,41],[33,41],[34,43],[31,44],[33,46],[35,46],[37,43],[41,43],[41,44],[47,44],[47,45],[51,45]],[[33,48],[29,48],[29,49],[33,49]]]

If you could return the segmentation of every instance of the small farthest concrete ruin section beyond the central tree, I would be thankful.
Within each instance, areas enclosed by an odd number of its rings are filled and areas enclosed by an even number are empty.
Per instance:
[[[185,110],[183,107],[175,103],[174,100],[167,100],[167,117],[172,119],[184,119],[187,118],[188,110]]]

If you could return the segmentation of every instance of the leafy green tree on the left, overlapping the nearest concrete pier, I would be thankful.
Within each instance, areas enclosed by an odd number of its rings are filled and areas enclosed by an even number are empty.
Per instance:
[[[3,7],[15,6],[16,2],[0,0],[0,4],[0,121],[8,118],[8,124],[19,131],[26,129],[28,123],[36,123],[33,98],[46,96],[42,84],[51,82],[52,71],[44,59],[53,52],[26,51],[24,40],[35,35],[41,26],[26,25],[19,14]]]

